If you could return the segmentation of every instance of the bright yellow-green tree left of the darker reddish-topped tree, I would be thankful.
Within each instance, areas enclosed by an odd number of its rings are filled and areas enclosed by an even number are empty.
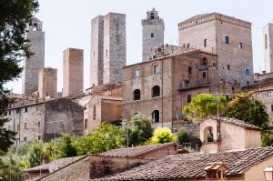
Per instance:
[[[184,106],[183,113],[187,116],[189,121],[191,121],[193,117],[196,117],[197,121],[201,121],[206,116],[217,115],[217,102],[219,115],[222,115],[227,106],[227,97],[208,94],[199,94],[197,97],[192,98],[190,104]]]

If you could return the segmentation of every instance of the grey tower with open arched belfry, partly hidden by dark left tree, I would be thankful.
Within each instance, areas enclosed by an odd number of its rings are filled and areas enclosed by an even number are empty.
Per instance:
[[[30,51],[34,53],[30,58],[24,58],[23,61],[23,86],[22,93],[30,95],[38,90],[38,72],[45,66],[45,32],[43,32],[43,22],[37,18],[32,20],[33,25],[29,26],[26,33],[26,39]]]

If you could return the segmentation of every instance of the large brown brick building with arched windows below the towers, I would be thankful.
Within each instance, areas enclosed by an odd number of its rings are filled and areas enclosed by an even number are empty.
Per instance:
[[[173,121],[181,119],[183,107],[199,93],[229,96],[238,91],[238,84],[218,73],[217,55],[200,50],[127,65],[124,77],[124,117],[151,117],[155,126],[172,127]]]

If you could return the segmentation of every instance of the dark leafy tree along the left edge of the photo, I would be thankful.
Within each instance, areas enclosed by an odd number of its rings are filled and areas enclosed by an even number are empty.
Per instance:
[[[23,56],[29,57],[29,45],[26,44],[25,32],[27,25],[38,10],[36,0],[2,0],[0,1],[0,116],[14,100],[6,96],[10,90],[5,83],[20,76],[19,66]],[[3,128],[8,119],[0,119],[0,150],[14,143],[15,132]]]

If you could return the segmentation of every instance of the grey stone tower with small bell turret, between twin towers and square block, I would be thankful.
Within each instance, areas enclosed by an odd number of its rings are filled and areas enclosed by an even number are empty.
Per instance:
[[[142,20],[142,61],[145,62],[154,51],[164,45],[164,21],[153,8],[147,12],[147,19]]]

